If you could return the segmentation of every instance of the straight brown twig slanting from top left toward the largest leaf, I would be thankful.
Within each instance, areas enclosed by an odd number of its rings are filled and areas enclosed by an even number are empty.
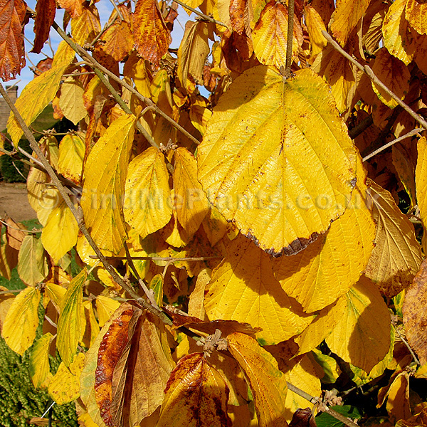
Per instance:
[[[115,73],[112,73],[110,70],[107,70],[107,68],[103,67],[100,63],[98,63],[97,60],[95,60],[95,58],[90,56],[81,46],[74,43],[74,41],[71,40],[71,38],[69,38],[65,34],[65,32],[62,30],[62,28],[60,28],[60,26],[58,26],[58,24],[56,22],[53,22],[52,26],[56,30],[56,32],[78,53],[79,56],[88,60],[88,65],[93,67],[94,70],[97,68],[98,70],[102,71],[102,73],[106,74],[109,78],[111,78],[112,80],[115,80],[117,83],[122,85],[127,90],[130,90],[130,92],[132,92],[139,100],[142,100],[142,102],[144,102],[146,105],[152,107],[152,109],[158,115],[162,116],[164,118],[164,120],[167,120],[167,122],[169,122],[177,130],[179,130],[179,132],[184,134],[187,138],[191,139],[191,141],[193,141],[195,144],[200,144],[200,141],[198,139],[196,139],[193,135],[191,135],[188,131],[186,131],[184,129],[184,127],[182,127],[181,125],[176,123],[175,120],[172,119],[171,117],[169,117],[165,112],[160,110],[160,108],[157,107],[157,105],[155,105],[154,102],[152,102],[152,100],[141,95],[135,88],[132,88],[131,85],[128,85],[120,77],[117,77],[117,75],[115,75]]]

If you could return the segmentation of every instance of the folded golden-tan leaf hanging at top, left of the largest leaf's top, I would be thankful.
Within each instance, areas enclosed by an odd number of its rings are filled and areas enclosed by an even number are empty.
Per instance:
[[[208,26],[206,21],[187,21],[185,24],[185,33],[178,49],[178,76],[184,88],[189,75],[194,78],[194,83],[204,83],[203,68],[210,52]]]

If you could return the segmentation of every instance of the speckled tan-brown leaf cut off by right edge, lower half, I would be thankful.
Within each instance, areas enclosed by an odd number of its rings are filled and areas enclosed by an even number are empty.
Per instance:
[[[421,364],[427,363],[427,260],[413,278],[405,295],[403,307],[406,339],[416,351]]]

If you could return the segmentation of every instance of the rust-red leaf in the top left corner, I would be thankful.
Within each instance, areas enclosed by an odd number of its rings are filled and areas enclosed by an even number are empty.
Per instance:
[[[0,78],[16,78],[25,66],[23,26],[26,2],[0,0]]]

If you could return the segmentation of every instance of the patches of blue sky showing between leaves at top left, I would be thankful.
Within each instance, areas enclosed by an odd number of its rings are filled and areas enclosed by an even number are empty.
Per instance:
[[[31,9],[36,9],[36,0],[26,0],[26,3],[28,4]],[[112,11],[112,4],[110,0],[100,0],[96,4],[97,9],[100,13],[100,20],[101,20],[101,26],[103,27],[105,22],[107,22],[108,18],[110,17],[111,11]],[[172,32],[172,48],[178,48],[179,42],[181,41],[182,35],[184,33],[184,26],[186,21],[189,20],[188,14],[184,11],[184,9],[179,6],[178,9],[179,16],[176,19],[174,23],[174,31]],[[193,15],[194,16],[194,15]],[[63,21],[63,10],[58,9],[56,11],[56,18],[55,21],[58,23],[58,25],[62,26]],[[28,38],[29,41],[34,40],[34,33],[33,33],[33,23],[34,21],[31,19],[28,24],[25,27],[25,36]],[[181,25],[180,25],[181,23]],[[70,31],[70,25],[68,25],[68,31]],[[51,44],[54,51],[56,51],[56,48],[58,47],[58,44],[60,43],[61,38],[58,36],[58,33],[56,33],[55,30],[51,29]],[[5,82],[4,85],[13,85],[16,83],[19,87],[19,94],[21,93],[21,90],[26,86],[26,84],[33,80],[33,72],[30,70],[31,62],[36,65],[39,60],[46,58],[43,54],[36,55],[35,53],[30,53],[31,51],[31,44],[26,43],[26,53],[28,55],[28,58],[26,58],[26,66],[21,70],[21,75],[16,78],[16,80],[9,80],[9,82]],[[46,55],[52,57],[52,52],[49,46],[46,44],[43,48],[43,52],[46,53]],[[31,62],[30,62],[31,60]],[[20,80],[20,81],[19,81]]]

